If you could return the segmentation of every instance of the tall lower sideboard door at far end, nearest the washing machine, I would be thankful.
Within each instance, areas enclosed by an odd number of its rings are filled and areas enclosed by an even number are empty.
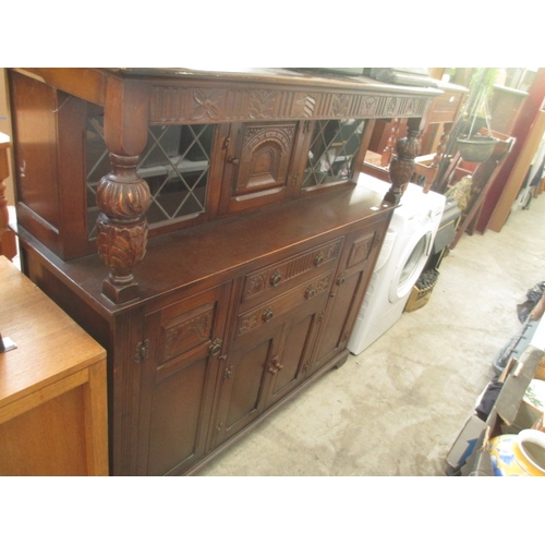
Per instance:
[[[376,222],[355,231],[348,238],[322,323],[315,363],[311,373],[322,368],[344,350],[373,272],[386,227],[385,221]]]

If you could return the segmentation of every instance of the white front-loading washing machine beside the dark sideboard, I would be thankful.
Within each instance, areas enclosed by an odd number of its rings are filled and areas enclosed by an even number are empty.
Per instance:
[[[359,184],[386,194],[390,184],[360,174]],[[360,354],[401,317],[431,255],[446,197],[409,183],[393,215],[348,343]]]

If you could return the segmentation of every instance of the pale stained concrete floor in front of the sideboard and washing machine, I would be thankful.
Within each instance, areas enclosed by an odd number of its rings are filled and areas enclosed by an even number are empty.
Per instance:
[[[545,280],[545,195],[500,233],[464,234],[429,302],[350,356],[199,475],[445,475],[445,458]]]

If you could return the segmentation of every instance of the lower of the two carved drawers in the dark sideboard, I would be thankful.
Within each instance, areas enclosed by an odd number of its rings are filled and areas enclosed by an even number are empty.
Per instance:
[[[241,337],[257,328],[264,327],[269,322],[284,316],[291,310],[314,300],[331,289],[334,268],[329,268],[322,275],[311,278],[308,281],[284,292],[283,294],[269,299],[253,308],[239,314],[235,337]]]

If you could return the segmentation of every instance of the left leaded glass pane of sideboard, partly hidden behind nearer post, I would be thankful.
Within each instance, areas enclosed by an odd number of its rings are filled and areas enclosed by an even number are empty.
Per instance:
[[[138,175],[149,185],[152,204],[146,214],[154,223],[194,217],[205,211],[214,125],[164,125],[148,129]],[[104,141],[104,117],[87,120],[87,226],[97,235],[96,189],[110,170]]]

